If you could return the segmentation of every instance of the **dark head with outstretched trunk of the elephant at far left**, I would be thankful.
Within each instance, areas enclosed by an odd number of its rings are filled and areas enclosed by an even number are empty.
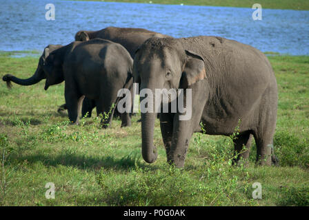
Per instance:
[[[57,82],[60,81],[59,75],[61,75],[62,69],[61,69],[61,72],[55,74],[55,72],[57,71],[57,68],[52,68],[52,63],[57,64],[57,62],[54,62],[56,59],[54,57],[53,52],[55,50],[58,50],[61,47],[63,46],[62,45],[48,45],[47,47],[45,47],[43,54],[39,58],[37,70],[34,72],[33,76],[31,76],[30,78],[21,79],[21,78],[12,76],[10,74],[6,74],[2,78],[3,81],[6,81],[8,87],[11,87],[11,83],[10,83],[11,81],[19,85],[34,85],[36,83],[39,83],[44,78],[46,78],[45,89],[48,89],[50,85],[57,84]]]

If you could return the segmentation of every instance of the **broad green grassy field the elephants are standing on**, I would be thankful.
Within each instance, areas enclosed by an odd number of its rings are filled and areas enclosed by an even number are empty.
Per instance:
[[[0,76],[26,78],[38,57],[0,54]],[[280,166],[231,166],[230,137],[195,134],[184,169],[166,164],[159,121],[155,164],[141,158],[141,129],[99,129],[99,118],[68,124],[57,108],[63,84],[43,90],[0,83],[1,206],[309,206],[309,56],[270,56],[279,85],[275,153]],[[46,183],[55,199],[46,199]],[[252,199],[261,183],[262,199]]]

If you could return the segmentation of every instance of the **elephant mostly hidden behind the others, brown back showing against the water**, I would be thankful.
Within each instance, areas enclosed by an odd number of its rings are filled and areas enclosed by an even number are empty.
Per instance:
[[[172,37],[157,32],[142,28],[115,28],[108,27],[98,31],[86,31],[81,30],[75,34],[75,41],[89,41],[90,39],[106,39],[119,43],[128,50],[131,57],[134,58],[134,52],[137,50],[139,45],[151,37]],[[95,107],[95,102],[85,98],[83,100],[83,106],[81,109],[82,117],[88,113],[88,117],[92,115],[92,109]],[[66,104],[62,104],[59,107],[58,112],[66,110]],[[116,111],[117,112],[117,111]]]

